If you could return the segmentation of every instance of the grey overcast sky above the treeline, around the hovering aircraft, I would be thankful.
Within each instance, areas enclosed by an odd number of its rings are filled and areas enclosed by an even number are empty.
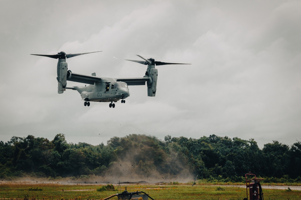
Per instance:
[[[301,1],[0,1],[0,140],[33,135],[107,144],[147,134],[301,140]],[[142,77],[156,61],[156,97],[129,86],[126,103],[83,105],[57,94],[57,60],[72,72]],[[68,82],[68,87],[84,85]]]

